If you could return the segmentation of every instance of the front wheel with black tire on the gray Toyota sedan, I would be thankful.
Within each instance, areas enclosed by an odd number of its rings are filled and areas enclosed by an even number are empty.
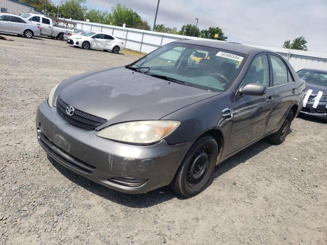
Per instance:
[[[194,142],[169,185],[177,194],[191,197],[198,194],[215,169],[218,157],[218,144],[209,135]]]

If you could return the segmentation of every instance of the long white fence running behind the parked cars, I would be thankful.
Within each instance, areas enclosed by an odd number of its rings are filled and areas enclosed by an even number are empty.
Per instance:
[[[133,28],[116,27],[110,26],[108,24],[91,23],[77,20],[73,21],[77,23],[76,29],[92,32],[102,32],[114,35],[115,37],[120,38],[124,41],[124,45],[126,48],[143,53],[150,53],[156,48],[176,40],[203,39],[168,33],[144,31]],[[264,47],[256,45],[251,46],[265,48],[267,50],[271,50],[283,55],[292,64],[295,70],[299,70],[302,68],[327,70],[327,54],[325,53],[288,50],[286,48]]]

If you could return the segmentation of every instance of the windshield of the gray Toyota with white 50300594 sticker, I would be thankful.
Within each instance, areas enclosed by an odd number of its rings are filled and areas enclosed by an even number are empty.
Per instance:
[[[169,43],[128,68],[149,76],[213,91],[225,91],[245,55],[219,48]]]

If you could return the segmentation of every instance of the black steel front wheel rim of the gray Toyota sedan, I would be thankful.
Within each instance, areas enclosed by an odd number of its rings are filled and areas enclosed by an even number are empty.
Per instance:
[[[198,187],[208,174],[212,152],[207,147],[199,149],[192,157],[186,170],[186,183],[191,188]]]

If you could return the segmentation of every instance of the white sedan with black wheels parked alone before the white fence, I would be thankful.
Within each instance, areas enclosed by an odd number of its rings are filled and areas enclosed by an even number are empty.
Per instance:
[[[124,49],[124,43],[121,40],[104,33],[87,32],[82,35],[73,35],[68,38],[67,42],[75,47],[84,48],[84,50],[97,48],[111,51],[114,54],[118,54]]]

